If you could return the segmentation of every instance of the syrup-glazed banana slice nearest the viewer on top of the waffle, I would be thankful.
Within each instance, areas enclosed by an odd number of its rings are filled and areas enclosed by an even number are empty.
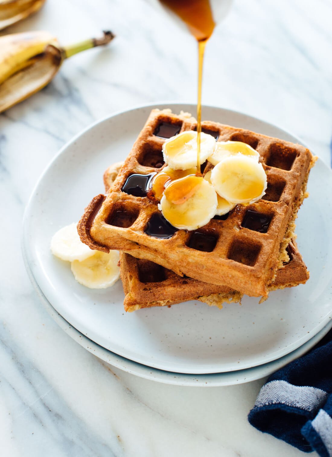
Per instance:
[[[202,177],[190,175],[166,187],[158,205],[164,218],[174,227],[195,230],[216,214],[217,194]]]

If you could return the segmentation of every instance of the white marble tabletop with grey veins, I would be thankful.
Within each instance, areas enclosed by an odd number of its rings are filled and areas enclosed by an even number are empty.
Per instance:
[[[235,0],[206,50],[204,103],[276,123],[330,164],[331,14],[330,0]],[[1,456],[300,456],[247,422],[263,380],[184,388],[113,369],[58,327],[29,282],[22,215],[58,149],[111,112],[195,101],[195,42],[142,0],[47,0],[8,32],[47,29],[66,43],[103,28],[117,34],[109,48],[73,57],[0,115]]]

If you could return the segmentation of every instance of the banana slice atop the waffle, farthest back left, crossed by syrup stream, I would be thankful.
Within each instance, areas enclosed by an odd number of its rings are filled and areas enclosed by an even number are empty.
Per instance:
[[[200,164],[213,153],[216,139],[207,133],[200,134]],[[197,164],[197,132],[189,130],[169,138],[163,143],[163,159],[173,170],[187,170]]]

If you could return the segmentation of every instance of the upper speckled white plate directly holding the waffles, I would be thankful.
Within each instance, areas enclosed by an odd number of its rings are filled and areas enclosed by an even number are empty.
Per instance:
[[[245,298],[242,306],[225,305],[220,311],[187,302],[126,314],[121,282],[112,289],[87,289],[75,282],[69,264],[50,253],[53,233],[77,221],[91,198],[103,191],[103,171],[126,157],[154,107],[195,112],[194,105],[158,104],[108,117],[64,146],[43,173],[26,208],[23,237],[27,262],[39,287],[83,335],[149,367],[220,373],[289,354],[320,332],[332,315],[332,172],[321,161],[311,171],[311,197],[300,209],[296,230],[311,278],[304,286],[271,293],[263,304]],[[277,127],[238,112],[206,106],[203,119],[299,142]]]

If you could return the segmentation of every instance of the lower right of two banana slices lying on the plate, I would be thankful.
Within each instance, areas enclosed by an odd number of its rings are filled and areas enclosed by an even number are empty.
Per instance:
[[[120,277],[118,267],[119,252],[109,253],[95,251],[88,259],[79,262],[74,260],[71,264],[77,282],[90,289],[105,289],[111,287]]]

